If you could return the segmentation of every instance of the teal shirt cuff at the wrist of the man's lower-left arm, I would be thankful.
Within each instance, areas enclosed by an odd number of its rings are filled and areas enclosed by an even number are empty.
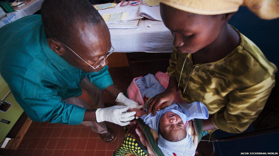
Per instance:
[[[75,105],[69,116],[68,124],[81,124],[81,122],[83,121],[85,110],[85,108]]]

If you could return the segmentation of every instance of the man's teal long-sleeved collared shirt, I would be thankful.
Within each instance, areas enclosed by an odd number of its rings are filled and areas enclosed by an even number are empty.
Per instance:
[[[33,121],[81,124],[85,108],[61,99],[81,95],[87,76],[99,89],[112,85],[105,66],[85,73],[50,49],[41,15],[30,15],[0,28],[0,73]]]

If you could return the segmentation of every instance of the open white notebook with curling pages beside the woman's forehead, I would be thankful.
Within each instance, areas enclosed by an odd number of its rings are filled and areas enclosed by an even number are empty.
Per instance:
[[[160,14],[160,7],[148,7],[145,5],[140,5],[139,16],[149,18],[151,20],[163,21]]]

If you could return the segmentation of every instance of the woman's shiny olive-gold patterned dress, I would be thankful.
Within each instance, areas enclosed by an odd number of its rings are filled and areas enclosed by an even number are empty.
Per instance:
[[[167,70],[179,82],[182,99],[202,102],[214,125],[230,133],[243,132],[258,117],[277,71],[250,39],[240,37],[238,47],[212,63],[193,65],[190,53],[174,48]]]

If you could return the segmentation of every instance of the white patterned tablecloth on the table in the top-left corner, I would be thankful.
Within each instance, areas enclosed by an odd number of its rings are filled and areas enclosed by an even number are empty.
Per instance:
[[[7,16],[0,19],[0,28],[5,24],[11,23],[19,18],[22,18],[27,15],[34,14],[40,10],[43,0],[31,0],[29,3],[24,6],[15,9],[13,13],[7,13]]]

